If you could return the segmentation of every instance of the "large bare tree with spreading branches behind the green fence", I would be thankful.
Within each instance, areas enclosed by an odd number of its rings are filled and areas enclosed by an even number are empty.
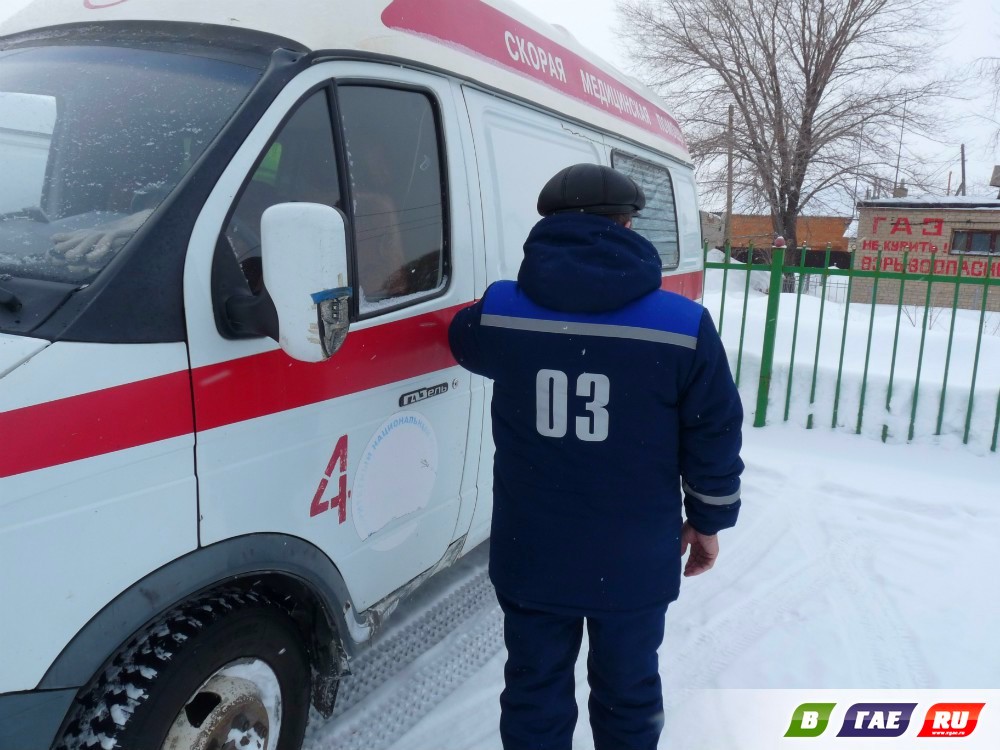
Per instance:
[[[618,12],[636,70],[685,130],[703,193],[725,189],[735,104],[738,204],[769,211],[792,247],[808,206],[843,210],[859,182],[892,182],[904,110],[908,135],[940,132],[949,84],[922,79],[935,0],[620,0]],[[916,160],[899,171],[921,184]]]

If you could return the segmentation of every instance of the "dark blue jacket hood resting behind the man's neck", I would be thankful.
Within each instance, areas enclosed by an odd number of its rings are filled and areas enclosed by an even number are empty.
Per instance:
[[[528,235],[517,283],[551,310],[617,310],[660,288],[660,256],[649,240],[605,216],[555,214]]]

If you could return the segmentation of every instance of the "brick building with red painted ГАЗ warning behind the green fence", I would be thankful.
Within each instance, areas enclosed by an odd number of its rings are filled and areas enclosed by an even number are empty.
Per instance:
[[[858,238],[854,268],[901,272],[935,277],[1000,279],[1000,200],[950,196],[947,198],[882,198],[858,202]],[[881,260],[879,253],[881,253]],[[881,266],[880,266],[881,264]],[[880,304],[899,302],[898,281],[880,281]],[[851,300],[871,302],[872,279],[857,278]],[[959,307],[978,309],[984,287],[962,284]],[[932,307],[954,304],[953,284],[931,288]],[[927,283],[907,281],[903,304],[924,305]],[[1000,289],[993,288],[987,309],[1000,310]]]

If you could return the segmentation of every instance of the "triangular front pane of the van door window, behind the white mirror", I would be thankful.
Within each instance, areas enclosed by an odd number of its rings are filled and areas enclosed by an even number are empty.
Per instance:
[[[255,293],[262,287],[260,217],[276,203],[340,205],[333,124],[326,90],[317,91],[282,126],[243,186],[224,235]]]

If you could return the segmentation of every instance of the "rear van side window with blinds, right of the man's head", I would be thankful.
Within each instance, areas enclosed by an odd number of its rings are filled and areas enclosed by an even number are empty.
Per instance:
[[[664,269],[677,268],[680,245],[670,172],[621,151],[612,153],[611,166],[638,182],[646,194],[646,207],[632,220],[632,228],[653,243]]]

